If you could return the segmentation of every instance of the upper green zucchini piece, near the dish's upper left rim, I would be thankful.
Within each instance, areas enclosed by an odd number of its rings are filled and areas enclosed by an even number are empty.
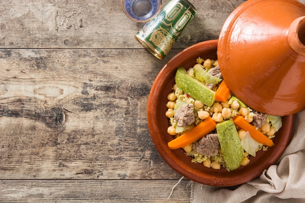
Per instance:
[[[200,81],[188,75],[183,67],[178,68],[175,76],[175,82],[178,88],[189,94],[192,98],[201,101],[209,107],[214,103],[215,92],[210,90]]]

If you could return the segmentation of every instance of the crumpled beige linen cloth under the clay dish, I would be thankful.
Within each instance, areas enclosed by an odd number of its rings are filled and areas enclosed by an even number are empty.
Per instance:
[[[191,203],[305,203],[305,110],[283,155],[260,177],[234,187],[191,183]]]

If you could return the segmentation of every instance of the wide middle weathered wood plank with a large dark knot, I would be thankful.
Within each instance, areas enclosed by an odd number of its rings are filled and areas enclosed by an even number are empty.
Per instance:
[[[178,179],[146,119],[165,62],[146,50],[0,50],[0,179]]]

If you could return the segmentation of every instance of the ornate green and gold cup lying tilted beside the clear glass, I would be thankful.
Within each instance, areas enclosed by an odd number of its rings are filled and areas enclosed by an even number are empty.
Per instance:
[[[155,57],[163,59],[196,12],[188,0],[170,0],[134,37]]]

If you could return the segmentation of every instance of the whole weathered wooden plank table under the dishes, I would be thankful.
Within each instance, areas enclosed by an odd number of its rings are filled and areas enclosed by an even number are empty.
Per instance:
[[[1,2],[1,203],[190,202],[190,181],[172,191],[182,176],[152,143],[148,96],[166,62],[217,39],[244,0],[191,2],[164,60],[134,39],[144,23],[119,0]]]

